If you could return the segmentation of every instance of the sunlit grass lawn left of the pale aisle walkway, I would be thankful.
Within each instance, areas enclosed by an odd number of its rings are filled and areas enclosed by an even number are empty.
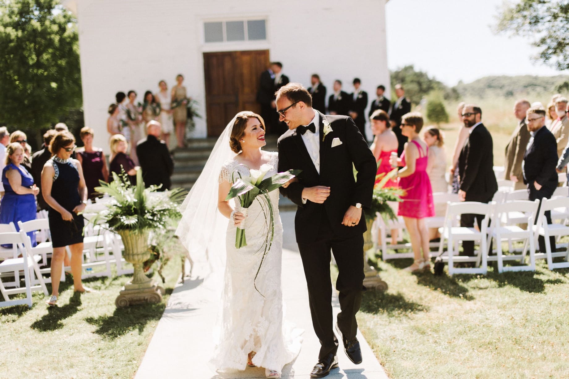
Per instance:
[[[115,307],[132,275],[87,279],[86,285],[99,292],[82,295],[73,293],[68,276],[61,283],[59,307],[48,307],[43,293],[34,293],[31,309],[0,308],[0,377],[133,377],[179,277],[179,260],[168,262],[163,274],[166,295],[159,304]],[[154,280],[162,283],[158,274]]]

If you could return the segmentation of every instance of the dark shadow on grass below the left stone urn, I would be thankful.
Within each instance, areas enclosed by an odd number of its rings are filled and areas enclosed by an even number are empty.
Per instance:
[[[166,289],[166,292],[168,293]],[[97,318],[88,317],[86,322],[97,327],[95,333],[101,336],[115,339],[126,333],[138,330],[142,333],[146,324],[150,321],[159,320],[164,313],[166,304],[139,304],[126,308],[117,308],[112,315],[102,315]]]

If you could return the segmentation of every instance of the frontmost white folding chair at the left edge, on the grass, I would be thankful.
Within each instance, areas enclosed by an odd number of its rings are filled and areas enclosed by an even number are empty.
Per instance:
[[[0,244],[12,244],[13,246],[22,245],[24,238],[28,240],[31,245],[30,237],[24,232],[15,233],[0,233]],[[45,283],[42,281],[42,275],[39,273],[38,261],[42,259],[40,256],[29,256],[25,249],[22,249],[21,258],[10,258],[0,263],[0,273],[20,271],[24,273],[25,286],[15,289],[6,289],[2,279],[0,278],[0,293],[4,298],[0,302],[0,307],[14,306],[19,304],[27,304],[28,307],[32,306],[32,291],[43,291],[44,295],[48,295]],[[40,282],[39,285],[32,285],[32,276],[37,275]],[[10,295],[25,293],[26,298],[10,300]]]

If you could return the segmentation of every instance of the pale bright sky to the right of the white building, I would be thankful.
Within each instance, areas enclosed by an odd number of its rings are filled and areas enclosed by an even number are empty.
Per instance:
[[[502,0],[390,0],[386,5],[387,64],[408,64],[447,85],[488,75],[569,75],[530,56],[526,38],[494,34]]]

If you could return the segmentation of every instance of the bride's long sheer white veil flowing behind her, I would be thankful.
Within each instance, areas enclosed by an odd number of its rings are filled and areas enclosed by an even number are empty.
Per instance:
[[[196,262],[207,261],[212,271],[225,267],[225,234],[229,220],[217,210],[218,178],[223,164],[236,153],[229,147],[229,138],[237,113],[225,126],[196,183],[185,198],[180,212],[182,220],[176,236]]]

